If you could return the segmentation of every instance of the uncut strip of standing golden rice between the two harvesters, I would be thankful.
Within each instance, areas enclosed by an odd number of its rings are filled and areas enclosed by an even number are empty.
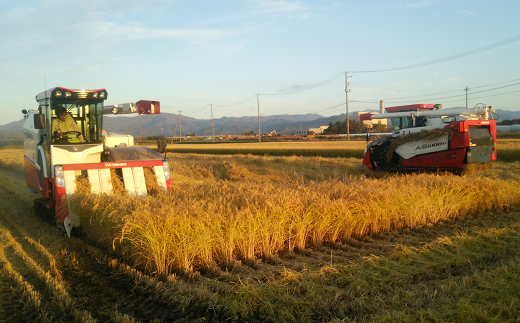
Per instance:
[[[144,199],[87,196],[83,216],[136,263],[167,274],[504,209],[520,197],[516,181],[479,175],[253,182],[232,179],[247,174],[236,169]]]

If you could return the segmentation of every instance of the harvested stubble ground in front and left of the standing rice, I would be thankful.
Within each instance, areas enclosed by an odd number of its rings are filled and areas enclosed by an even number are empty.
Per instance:
[[[19,161],[23,152],[0,154]],[[27,192],[21,166],[4,163],[0,183],[0,322],[518,322],[520,317],[516,208],[237,261],[217,271],[157,277],[81,231],[67,238],[37,217],[38,196]]]

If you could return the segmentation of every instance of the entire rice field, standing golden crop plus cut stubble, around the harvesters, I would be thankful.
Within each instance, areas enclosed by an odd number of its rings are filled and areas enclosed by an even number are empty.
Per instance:
[[[497,146],[514,159],[520,141]],[[35,222],[23,152],[0,155],[0,318],[18,318],[8,322],[520,315],[518,160],[459,176],[372,173],[355,157],[168,152],[170,192],[78,193],[82,228],[68,239]]]

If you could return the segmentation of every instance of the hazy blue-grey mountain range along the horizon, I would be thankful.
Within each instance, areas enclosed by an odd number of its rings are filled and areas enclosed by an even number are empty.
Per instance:
[[[351,114],[351,113],[349,113]],[[499,121],[520,119],[520,111],[496,110]],[[210,136],[211,119],[194,119],[172,113],[142,116],[106,116],[103,129],[109,132],[131,134],[139,138],[139,118],[141,137],[162,135],[171,137],[173,132],[178,136],[187,134]],[[293,134],[297,130],[308,130],[327,126],[330,122],[345,120],[345,114],[323,117],[319,114],[261,116],[260,129],[262,133],[276,130],[279,134]],[[19,137],[22,134],[24,119],[0,126],[0,138]],[[223,117],[213,120],[215,135],[240,135],[244,132],[258,132],[258,117]]]

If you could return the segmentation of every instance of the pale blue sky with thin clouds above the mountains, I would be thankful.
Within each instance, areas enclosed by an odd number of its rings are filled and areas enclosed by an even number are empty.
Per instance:
[[[0,124],[56,86],[197,119],[520,110],[520,1],[0,0]],[[347,74],[346,74],[347,73]],[[345,78],[347,76],[347,78]]]

